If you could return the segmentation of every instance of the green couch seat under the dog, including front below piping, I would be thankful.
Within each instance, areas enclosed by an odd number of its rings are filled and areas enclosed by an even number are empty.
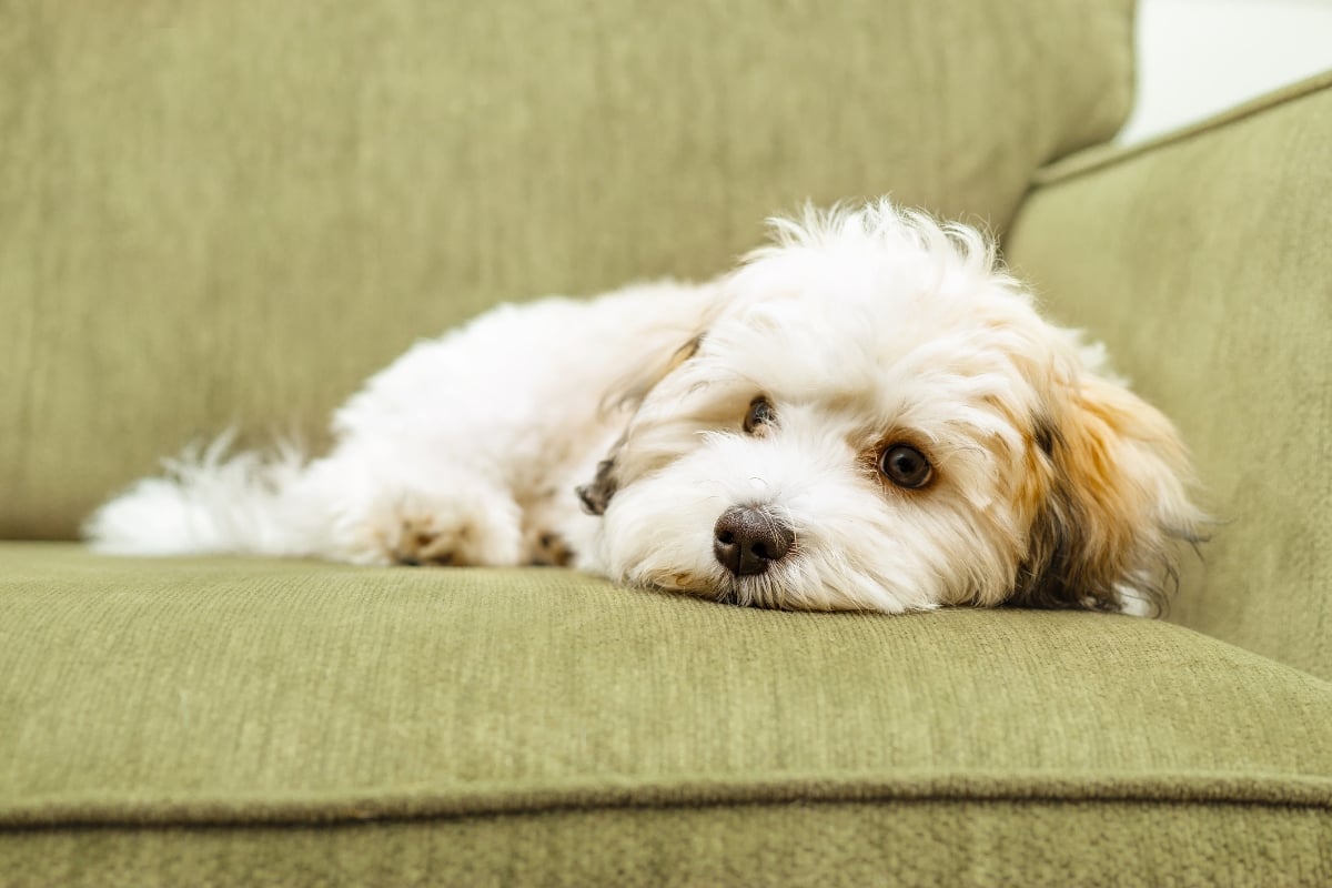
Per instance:
[[[0,883],[1332,880],[1332,684],[1168,623],[57,543],[0,608]]]

